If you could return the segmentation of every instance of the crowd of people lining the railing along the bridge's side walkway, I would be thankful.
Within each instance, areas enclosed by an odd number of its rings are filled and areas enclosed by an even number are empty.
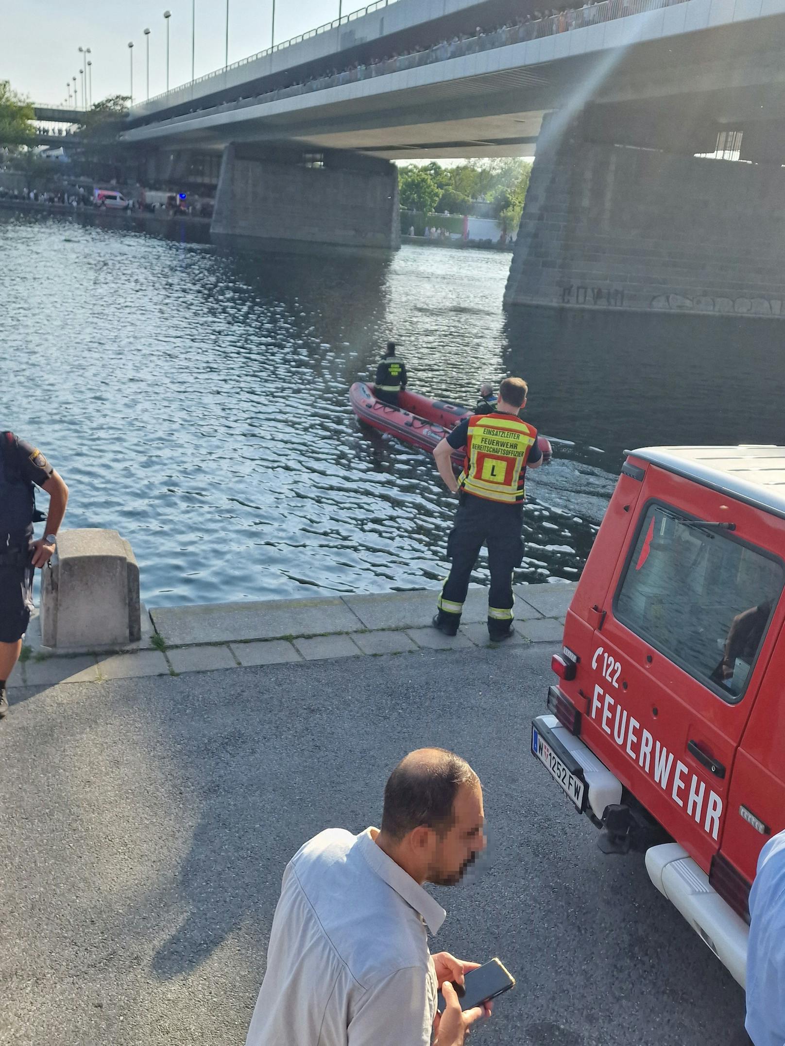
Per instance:
[[[342,70],[333,68],[320,75],[311,76],[309,79],[278,87],[251,98],[241,97],[238,100],[246,105],[256,105],[260,101],[278,101],[311,91],[321,91],[329,87],[341,87],[344,84],[354,84],[375,76],[417,69],[434,62],[477,54],[480,51],[538,40],[571,29],[614,21],[630,15],[658,10],[682,2],[683,0],[599,0],[599,2],[598,0],[589,0],[581,7],[536,9],[512,22],[486,28],[477,26],[473,33],[458,33],[449,40],[442,40],[428,47],[414,46],[391,55],[372,59],[367,63],[355,62]],[[227,105],[234,106],[236,103],[227,103]]]

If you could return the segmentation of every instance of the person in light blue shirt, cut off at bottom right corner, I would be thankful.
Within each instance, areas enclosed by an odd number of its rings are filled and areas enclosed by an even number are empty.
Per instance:
[[[755,1046],[785,1043],[785,832],[766,843],[749,891],[747,1019]]]

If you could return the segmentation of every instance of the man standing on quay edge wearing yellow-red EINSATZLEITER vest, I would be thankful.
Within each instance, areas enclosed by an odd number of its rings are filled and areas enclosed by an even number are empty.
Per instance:
[[[433,627],[448,636],[457,632],[484,544],[491,571],[488,632],[493,640],[507,639],[513,632],[513,571],[523,559],[525,474],[542,464],[537,430],[518,417],[528,391],[522,379],[504,379],[494,410],[465,418],[433,451],[442,479],[458,494],[455,523],[447,539],[452,567],[433,618]],[[464,447],[464,471],[456,481],[450,457]]]

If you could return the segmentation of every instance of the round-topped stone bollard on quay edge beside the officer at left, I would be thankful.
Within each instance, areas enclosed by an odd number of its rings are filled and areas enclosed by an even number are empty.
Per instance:
[[[58,650],[141,638],[139,567],[116,530],[63,530],[41,583],[41,639]]]

